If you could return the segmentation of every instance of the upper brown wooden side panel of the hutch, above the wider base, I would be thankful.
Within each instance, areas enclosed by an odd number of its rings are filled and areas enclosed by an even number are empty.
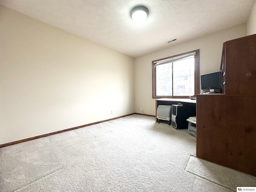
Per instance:
[[[256,34],[224,44],[225,94],[256,94]]]

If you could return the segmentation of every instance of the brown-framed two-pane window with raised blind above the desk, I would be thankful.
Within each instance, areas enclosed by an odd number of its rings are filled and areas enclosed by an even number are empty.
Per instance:
[[[153,98],[199,94],[199,50],[152,61]]]

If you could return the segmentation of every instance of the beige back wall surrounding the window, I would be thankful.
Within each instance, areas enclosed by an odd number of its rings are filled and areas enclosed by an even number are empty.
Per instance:
[[[152,61],[200,49],[200,74],[220,70],[223,42],[246,36],[246,24],[209,34],[135,58],[135,112],[155,115],[152,99]]]

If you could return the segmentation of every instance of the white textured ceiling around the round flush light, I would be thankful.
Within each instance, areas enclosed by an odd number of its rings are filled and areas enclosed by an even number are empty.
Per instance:
[[[0,4],[132,57],[247,22],[255,0],[0,0]],[[144,5],[142,24],[130,10]],[[166,41],[178,38],[169,44]]]

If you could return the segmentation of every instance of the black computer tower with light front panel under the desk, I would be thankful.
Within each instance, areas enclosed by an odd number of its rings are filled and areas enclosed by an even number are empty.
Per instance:
[[[172,127],[176,129],[187,129],[188,122],[186,119],[189,117],[188,108],[182,104],[172,105]]]

